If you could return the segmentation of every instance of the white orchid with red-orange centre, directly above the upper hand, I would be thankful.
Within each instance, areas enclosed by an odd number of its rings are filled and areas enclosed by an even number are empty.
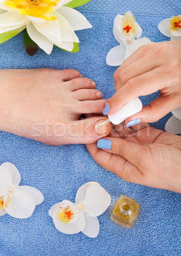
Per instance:
[[[141,33],[142,29],[131,12],[126,12],[124,16],[118,14],[114,20],[113,34],[120,45],[108,52],[107,65],[121,65],[139,47],[151,42],[148,38],[140,38]]]

